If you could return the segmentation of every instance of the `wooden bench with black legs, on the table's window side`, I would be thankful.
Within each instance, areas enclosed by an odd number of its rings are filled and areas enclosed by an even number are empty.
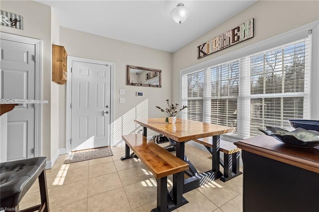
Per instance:
[[[203,144],[206,149],[212,153],[212,137],[199,138],[193,140],[197,143]],[[224,160],[219,160],[219,163],[224,168],[224,175],[220,177],[220,180],[226,182],[242,172],[239,171],[239,157],[241,149],[237,148],[232,142],[220,140],[220,151],[224,153]],[[215,160],[213,158],[213,160]]]

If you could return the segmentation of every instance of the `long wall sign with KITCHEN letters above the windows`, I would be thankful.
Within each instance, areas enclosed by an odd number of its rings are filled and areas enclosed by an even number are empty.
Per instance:
[[[197,59],[254,37],[254,18],[197,46]]]

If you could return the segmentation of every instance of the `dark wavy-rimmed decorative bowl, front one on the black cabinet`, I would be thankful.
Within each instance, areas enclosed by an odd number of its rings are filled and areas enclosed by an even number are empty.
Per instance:
[[[277,140],[298,147],[315,147],[319,145],[319,132],[297,128],[294,131],[288,131],[279,127],[266,126],[266,130],[259,129],[266,135],[275,137]]]

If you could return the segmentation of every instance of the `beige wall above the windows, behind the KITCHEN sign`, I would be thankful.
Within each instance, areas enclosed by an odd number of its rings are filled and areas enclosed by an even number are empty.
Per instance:
[[[232,29],[244,21],[255,18],[254,38],[197,59],[197,46]],[[219,26],[198,37],[173,53],[172,98],[179,101],[179,71],[203,61],[227,54],[259,41],[297,28],[319,19],[319,1],[270,1],[259,0]],[[190,29],[191,30],[191,29]]]

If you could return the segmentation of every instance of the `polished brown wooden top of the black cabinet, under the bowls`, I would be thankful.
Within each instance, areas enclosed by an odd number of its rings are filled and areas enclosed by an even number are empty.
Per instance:
[[[234,144],[245,151],[319,173],[319,146],[290,146],[268,135],[248,138]]]

